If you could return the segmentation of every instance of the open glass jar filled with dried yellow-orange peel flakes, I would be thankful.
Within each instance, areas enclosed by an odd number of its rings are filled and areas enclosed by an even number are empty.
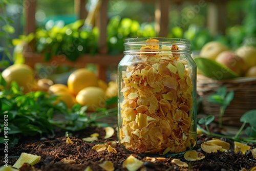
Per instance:
[[[195,146],[197,67],[190,45],[187,39],[125,39],[118,141],[127,152],[172,156]]]

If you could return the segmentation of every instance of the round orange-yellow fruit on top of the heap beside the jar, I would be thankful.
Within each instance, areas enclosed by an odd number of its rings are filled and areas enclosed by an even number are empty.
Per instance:
[[[86,87],[97,87],[97,75],[88,69],[81,68],[72,72],[68,78],[68,88],[73,95],[77,95],[80,90]]]

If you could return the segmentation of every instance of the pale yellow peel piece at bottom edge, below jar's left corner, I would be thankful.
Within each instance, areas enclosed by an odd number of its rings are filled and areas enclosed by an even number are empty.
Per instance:
[[[130,155],[123,161],[123,168],[127,168],[129,171],[138,170],[143,165],[143,162]]]

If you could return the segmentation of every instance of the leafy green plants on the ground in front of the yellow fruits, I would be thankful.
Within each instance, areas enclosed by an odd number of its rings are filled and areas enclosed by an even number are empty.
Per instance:
[[[95,113],[88,114],[87,106],[75,104],[72,109],[60,101],[56,103],[57,96],[42,91],[24,94],[16,82],[12,82],[10,88],[0,74],[0,132],[7,135],[0,137],[0,143],[9,139],[9,146],[17,144],[23,136],[42,135],[54,133],[54,126],[67,131],[79,131],[89,125],[107,126],[99,122],[101,118],[116,116],[117,109],[99,109]],[[108,104],[115,99],[108,100]],[[8,125],[4,118],[8,117]]]

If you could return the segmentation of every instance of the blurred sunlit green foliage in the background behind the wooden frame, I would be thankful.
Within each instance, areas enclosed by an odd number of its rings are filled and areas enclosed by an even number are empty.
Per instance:
[[[60,3],[39,0],[38,8],[47,11],[47,17],[73,13],[73,1],[66,1]],[[95,0],[89,0],[86,8],[89,8],[93,1]],[[198,4],[190,2],[170,5],[170,30],[167,37],[190,39],[192,51],[200,50],[206,42],[212,40],[221,41],[230,49],[236,49],[248,40],[255,41],[252,37],[256,37],[256,0],[228,2],[226,35],[211,35],[206,28],[207,3],[198,11],[194,11],[194,16],[187,19],[185,24],[181,24],[184,19],[182,17],[193,11],[196,5]],[[56,6],[59,8],[53,8]],[[109,54],[122,53],[125,38],[158,36],[154,29],[155,2],[110,0],[108,15],[106,43]],[[97,53],[98,37],[99,29],[84,27],[83,20],[76,20],[68,25],[65,25],[65,22],[49,20],[46,25],[38,27],[34,35],[36,50],[44,54],[45,60],[49,60],[53,55],[64,54],[72,61],[81,54]]]

